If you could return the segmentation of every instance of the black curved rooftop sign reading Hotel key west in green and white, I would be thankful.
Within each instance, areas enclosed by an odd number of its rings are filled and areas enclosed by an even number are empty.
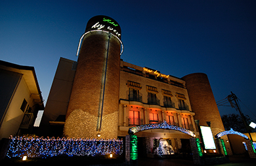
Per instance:
[[[121,39],[121,27],[116,20],[108,16],[94,16],[86,26],[85,32],[92,30],[104,30],[116,35]]]

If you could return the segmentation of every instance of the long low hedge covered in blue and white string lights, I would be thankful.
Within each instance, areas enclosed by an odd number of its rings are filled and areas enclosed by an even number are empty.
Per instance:
[[[11,138],[7,157],[47,158],[60,155],[96,156],[123,153],[119,139]]]

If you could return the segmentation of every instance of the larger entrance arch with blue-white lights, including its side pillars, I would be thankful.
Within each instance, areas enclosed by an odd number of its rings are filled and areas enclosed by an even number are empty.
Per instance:
[[[129,128],[129,135],[126,137],[126,161],[127,162],[136,162],[138,159],[138,138],[137,135],[134,135],[135,133],[139,131],[144,131],[144,130],[149,130],[149,129],[171,129],[175,131],[180,131],[182,133],[185,133],[186,135],[189,135],[190,137],[190,144],[192,148],[192,153],[193,153],[193,159],[194,159],[194,154],[198,153],[198,144],[196,141],[196,134],[193,131],[190,131],[188,129],[185,129],[183,127],[179,127],[176,125],[170,125],[167,124],[167,122],[163,121],[161,124],[146,124],[146,125],[139,125],[135,127]],[[200,144],[199,144],[200,146]],[[194,152],[196,150],[196,152]]]

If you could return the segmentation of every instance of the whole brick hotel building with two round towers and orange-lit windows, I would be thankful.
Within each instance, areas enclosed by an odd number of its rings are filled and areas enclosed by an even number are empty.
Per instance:
[[[124,138],[131,127],[162,122],[196,137],[199,125],[211,125],[213,137],[224,131],[207,75],[177,78],[127,63],[120,59],[121,45],[121,28],[114,19],[89,20],[77,62],[60,58],[40,125],[43,135],[61,137],[63,131],[66,137]],[[136,135],[144,154],[154,153],[161,140],[175,153],[190,147],[190,135],[180,131],[148,129]]]

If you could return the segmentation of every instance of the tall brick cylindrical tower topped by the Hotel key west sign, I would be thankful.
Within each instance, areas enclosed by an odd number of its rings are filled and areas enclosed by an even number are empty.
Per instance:
[[[89,20],[66,113],[66,137],[117,138],[121,28],[108,16]]]

